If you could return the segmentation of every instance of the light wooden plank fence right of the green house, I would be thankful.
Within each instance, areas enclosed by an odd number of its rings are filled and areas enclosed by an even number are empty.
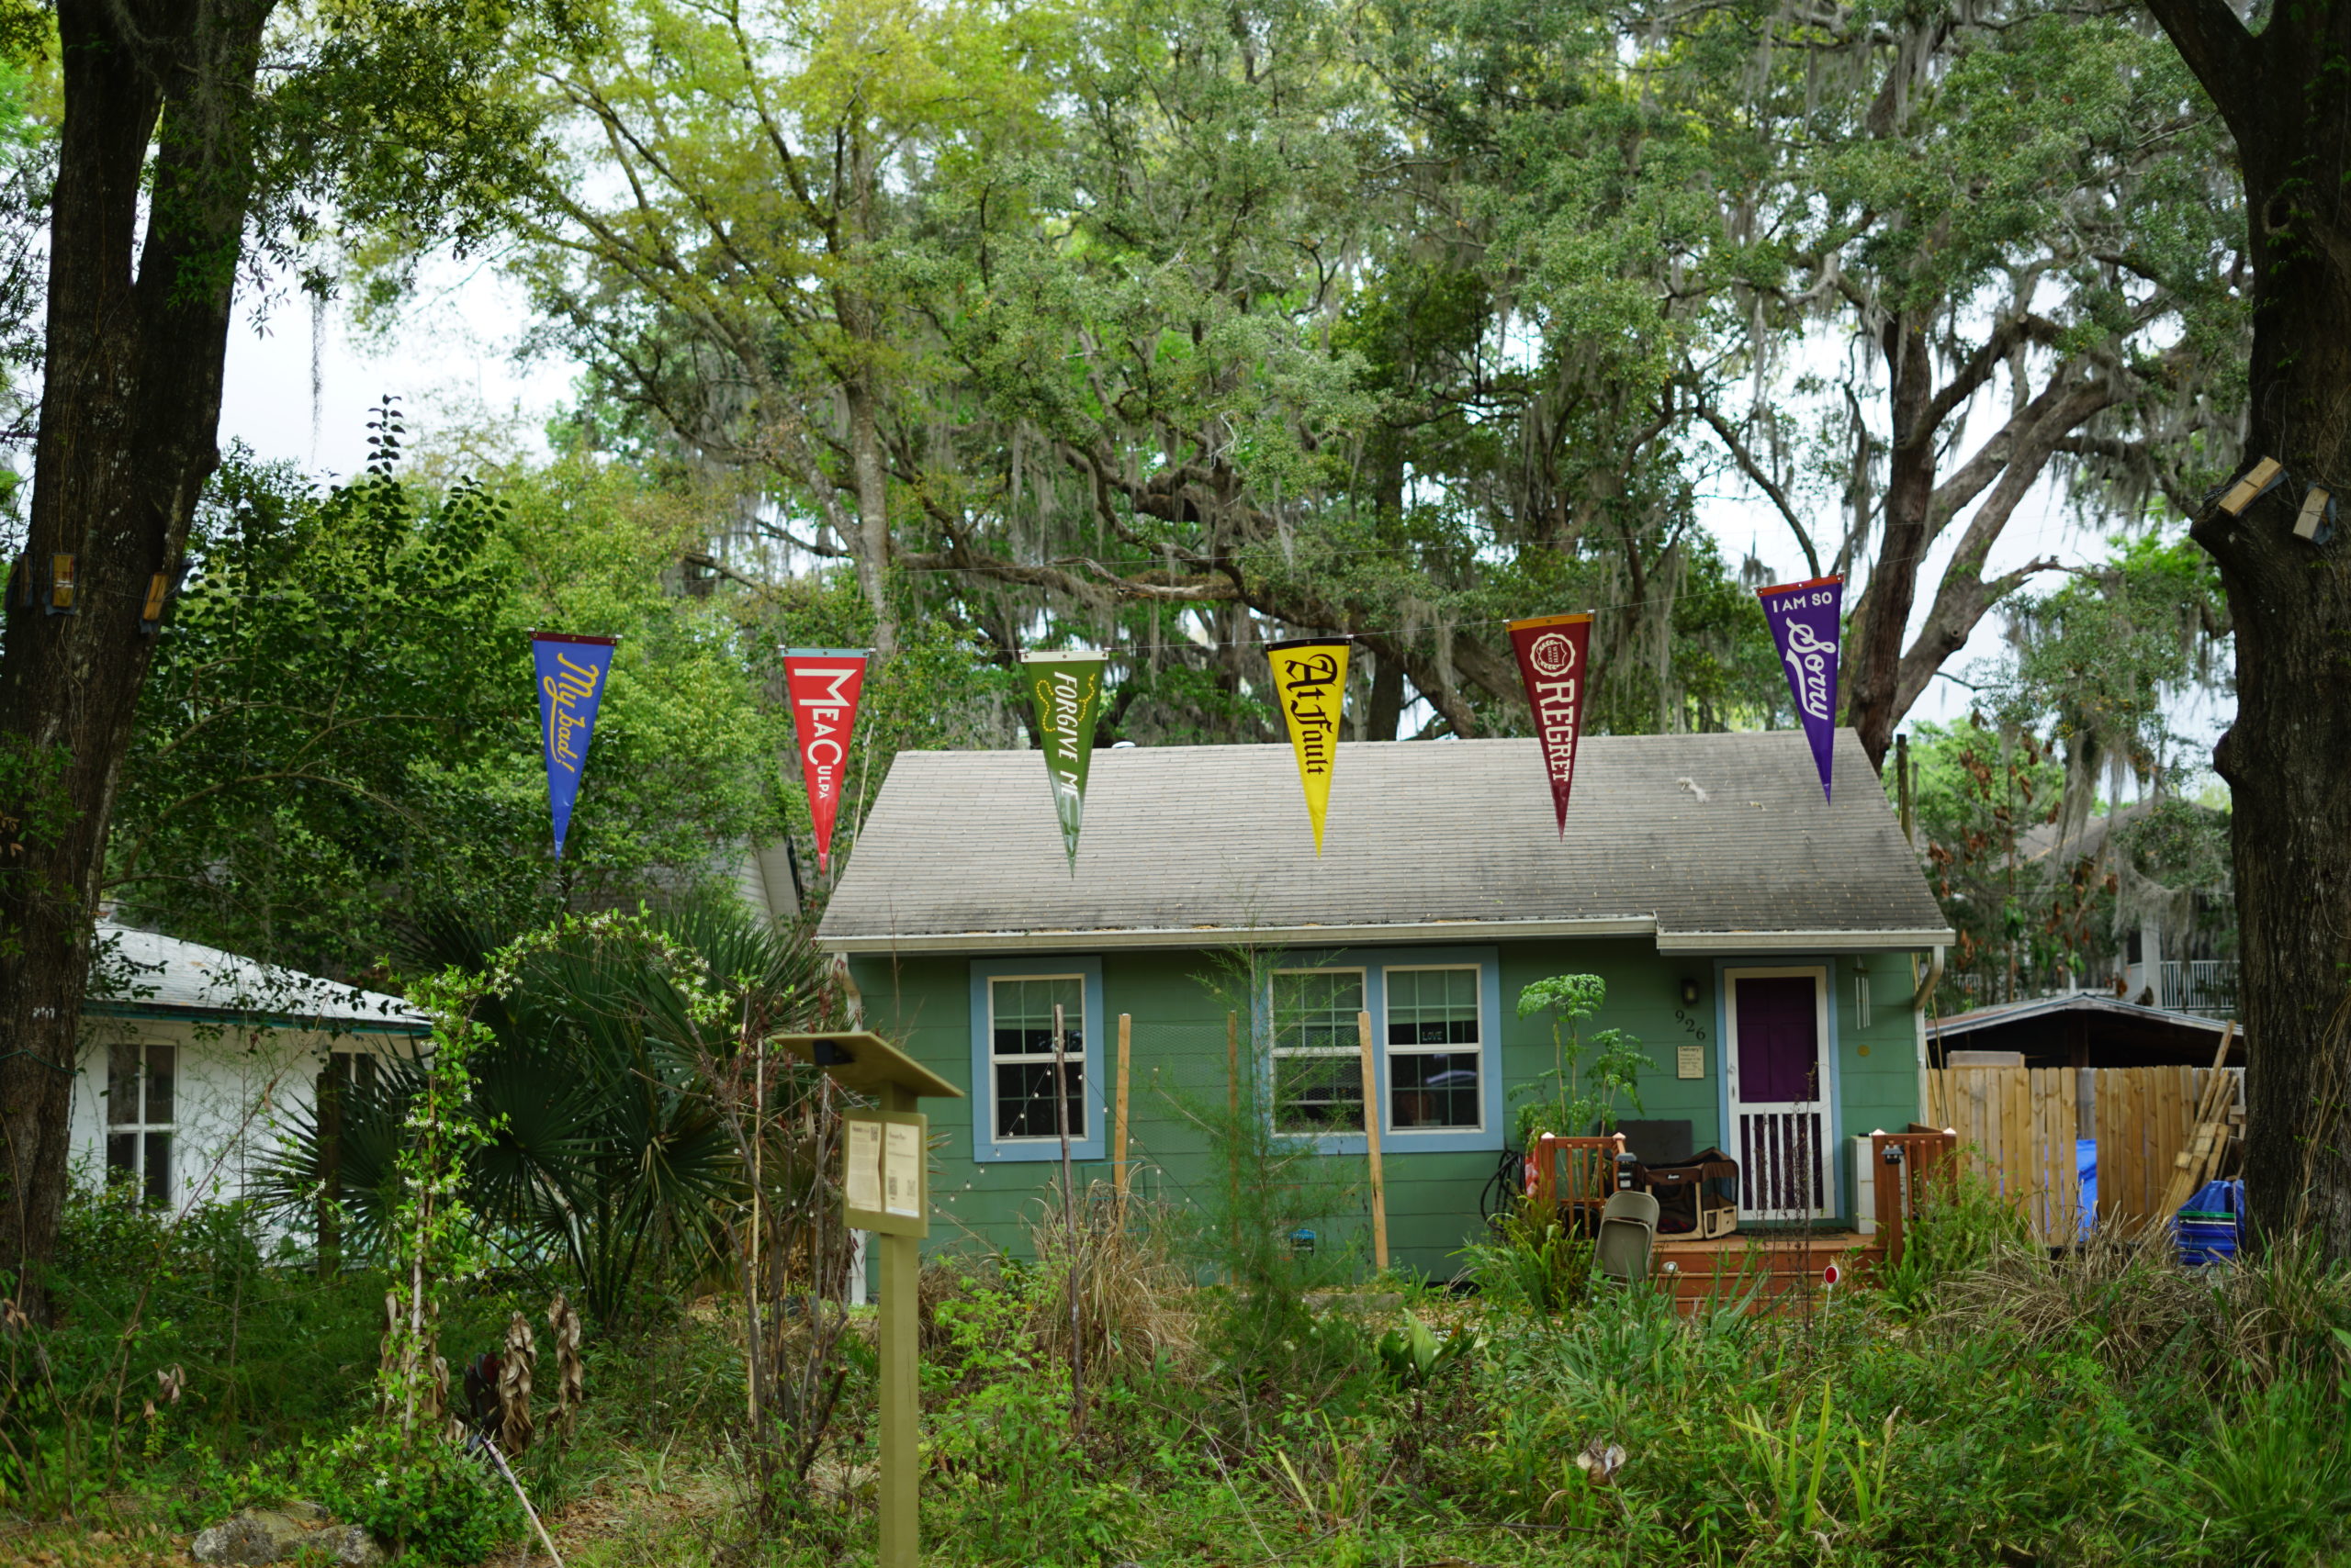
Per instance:
[[[2165,1213],[2165,1190],[2196,1135],[2210,1074],[2210,1067],[1944,1067],[1928,1072],[1928,1114],[1958,1135],[1968,1168],[2027,1213],[2043,1246],[2064,1246],[2083,1232],[2076,1140],[2097,1140],[2097,1229],[2137,1234]]]

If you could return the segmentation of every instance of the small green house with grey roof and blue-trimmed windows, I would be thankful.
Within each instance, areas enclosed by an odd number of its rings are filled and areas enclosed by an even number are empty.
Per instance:
[[[1136,1190],[1185,1204],[1234,1070],[1279,1135],[1364,1152],[1368,1013],[1392,1255],[1432,1276],[1552,1067],[1516,1013],[1547,976],[1606,980],[1585,1027],[1650,1056],[1634,1152],[1726,1150],[1744,1229],[1867,1215],[1855,1138],[1918,1117],[1951,933],[1850,731],[1834,802],[1799,733],[1587,738],[1563,835],[1533,741],[1342,745],[1321,856],[1286,745],[1091,773],[1072,872],[1037,752],[900,755],[825,910],[865,1027],[969,1095],[929,1105],[933,1246],[1025,1248],[1056,1067],[1079,1182],[1110,1180],[1121,1016]]]

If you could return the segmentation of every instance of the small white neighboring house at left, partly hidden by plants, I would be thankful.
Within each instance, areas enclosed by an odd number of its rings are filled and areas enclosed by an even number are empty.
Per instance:
[[[73,1157],[158,1206],[233,1199],[322,1072],[371,1077],[414,1056],[430,1020],[400,997],[99,926],[73,1086]]]

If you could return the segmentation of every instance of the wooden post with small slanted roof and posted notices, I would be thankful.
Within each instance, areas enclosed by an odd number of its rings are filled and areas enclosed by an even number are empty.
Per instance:
[[[922,1239],[931,1234],[931,1119],[915,1105],[924,1095],[962,1100],[964,1091],[879,1034],[778,1034],[769,1044],[882,1103],[882,1110],[853,1110],[844,1119],[842,1194],[849,1227],[882,1237],[882,1552],[875,1561],[915,1568],[922,1559],[915,1295]]]

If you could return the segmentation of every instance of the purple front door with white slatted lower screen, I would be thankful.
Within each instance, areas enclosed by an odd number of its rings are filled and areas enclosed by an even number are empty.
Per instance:
[[[1730,1027],[1740,1208],[1766,1220],[1829,1213],[1820,978],[1733,976]]]

